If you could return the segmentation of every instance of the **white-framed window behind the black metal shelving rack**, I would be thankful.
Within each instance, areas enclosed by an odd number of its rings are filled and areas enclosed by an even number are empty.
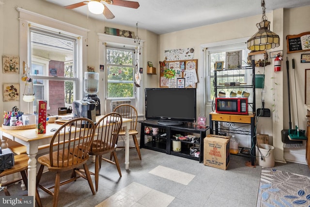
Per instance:
[[[224,61],[224,70],[221,72],[217,72],[217,80],[220,83],[224,82],[240,82],[246,83],[250,81],[250,74],[247,74],[248,70],[225,70],[225,63],[226,63],[226,52],[232,51],[242,51],[242,66],[247,66],[247,57],[248,57],[248,49],[245,43],[237,43],[237,44],[229,44],[229,45],[221,45],[221,46],[214,46],[208,47],[205,49],[205,60],[206,60],[206,70],[207,70],[207,100],[212,101],[216,95],[214,92],[214,69],[215,63],[218,61]],[[241,86],[242,88],[242,86]],[[225,89],[225,93],[229,94],[232,89]]]

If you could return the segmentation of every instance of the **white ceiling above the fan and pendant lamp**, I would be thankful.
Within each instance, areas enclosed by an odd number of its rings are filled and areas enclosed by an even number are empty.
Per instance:
[[[60,6],[82,0],[45,0]],[[138,9],[106,4],[115,18],[88,12],[87,5],[73,9],[109,23],[138,27],[156,34],[176,32],[247,16],[262,15],[261,0],[136,0]],[[310,5],[310,0],[265,0],[266,13],[278,8]],[[268,15],[266,14],[268,17]],[[261,18],[257,19],[259,22]],[[120,28],[118,28],[120,29]],[[135,31],[134,31],[135,32]]]

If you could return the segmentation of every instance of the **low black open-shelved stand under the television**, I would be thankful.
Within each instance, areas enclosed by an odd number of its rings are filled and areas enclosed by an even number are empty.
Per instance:
[[[162,125],[158,121],[144,120],[141,123],[140,148],[146,148],[157,152],[163,152],[169,155],[175,155],[187,159],[203,162],[203,139],[209,127],[197,127],[193,123],[181,123],[181,125]],[[152,134],[152,130],[146,130],[152,127],[158,128],[157,134]],[[194,135],[195,140],[176,140],[175,135]],[[198,135],[197,135],[198,134]],[[173,143],[180,141],[181,149],[173,151]],[[199,150],[198,153],[192,153],[192,149]]]

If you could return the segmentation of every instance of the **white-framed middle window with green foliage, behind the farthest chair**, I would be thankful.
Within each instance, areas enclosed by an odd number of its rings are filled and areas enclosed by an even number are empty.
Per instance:
[[[143,40],[140,52],[135,52],[137,43],[133,38],[124,38],[109,34],[98,34],[99,64],[104,65],[100,75],[104,84],[105,112],[113,111],[116,105],[129,103],[138,114],[143,114],[143,74],[137,74],[137,67],[143,63]],[[101,69],[102,71],[102,69]],[[138,71],[139,73],[139,71]],[[136,87],[136,77],[141,78],[140,87]]]

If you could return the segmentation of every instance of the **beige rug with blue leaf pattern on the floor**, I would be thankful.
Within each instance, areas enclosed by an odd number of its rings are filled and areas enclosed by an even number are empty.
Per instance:
[[[310,207],[310,177],[263,168],[256,207]]]

